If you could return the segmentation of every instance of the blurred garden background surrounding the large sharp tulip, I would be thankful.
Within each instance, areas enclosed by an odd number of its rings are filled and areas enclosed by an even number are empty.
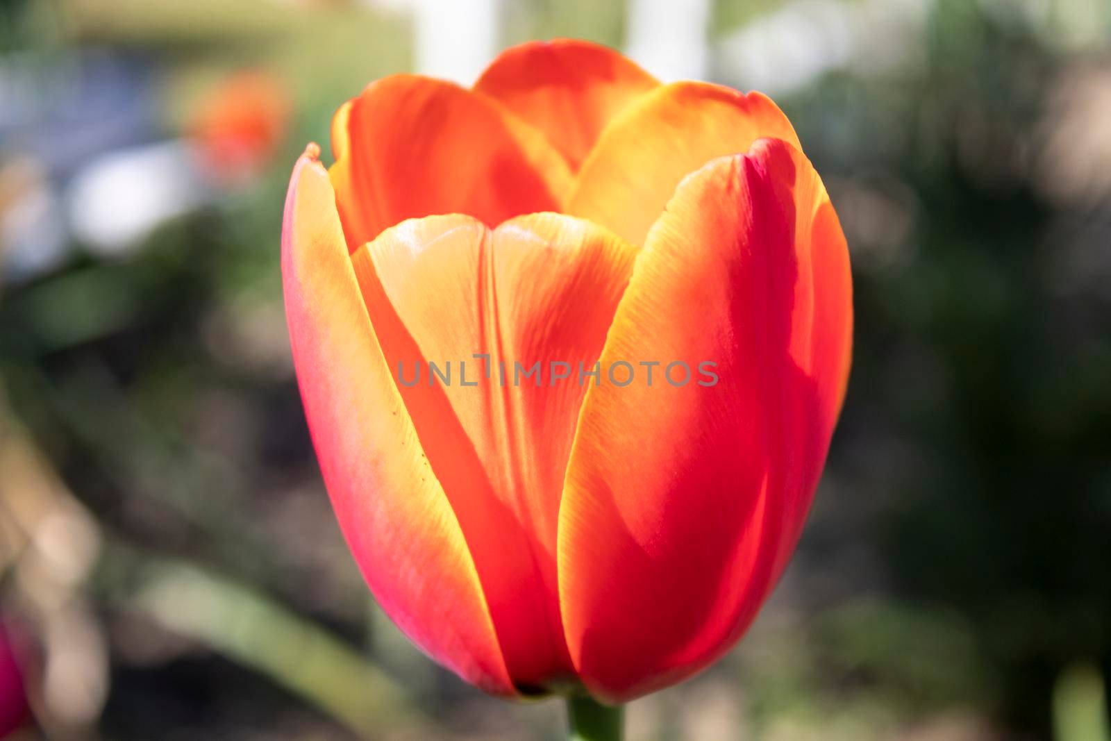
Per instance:
[[[374,607],[278,260],[340,102],[556,36],[773,96],[853,260],[798,555],[630,739],[1111,739],[1108,0],[0,0],[0,735],[560,738]]]

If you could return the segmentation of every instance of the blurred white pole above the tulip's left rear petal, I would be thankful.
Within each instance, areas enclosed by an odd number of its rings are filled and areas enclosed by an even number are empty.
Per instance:
[[[499,0],[416,0],[417,71],[469,86],[498,52]]]

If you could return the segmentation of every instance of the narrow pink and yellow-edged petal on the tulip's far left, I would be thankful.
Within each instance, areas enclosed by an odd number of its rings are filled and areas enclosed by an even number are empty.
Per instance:
[[[282,282],[309,430],[340,527],[382,609],[490,692],[516,692],[459,522],[371,329],[328,173],[311,147],[290,182]]]

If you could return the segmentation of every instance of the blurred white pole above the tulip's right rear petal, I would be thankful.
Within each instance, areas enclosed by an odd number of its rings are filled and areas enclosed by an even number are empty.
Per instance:
[[[710,0],[628,0],[629,56],[664,82],[705,77]]]

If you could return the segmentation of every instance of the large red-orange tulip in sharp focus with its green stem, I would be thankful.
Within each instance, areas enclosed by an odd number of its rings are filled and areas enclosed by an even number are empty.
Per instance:
[[[569,40],[469,90],[378,80],[332,150],[293,170],[282,276],[354,559],[436,661],[613,738],[610,708],[737,642],[799,539],[851,354],[825,189],[767,97]]]

